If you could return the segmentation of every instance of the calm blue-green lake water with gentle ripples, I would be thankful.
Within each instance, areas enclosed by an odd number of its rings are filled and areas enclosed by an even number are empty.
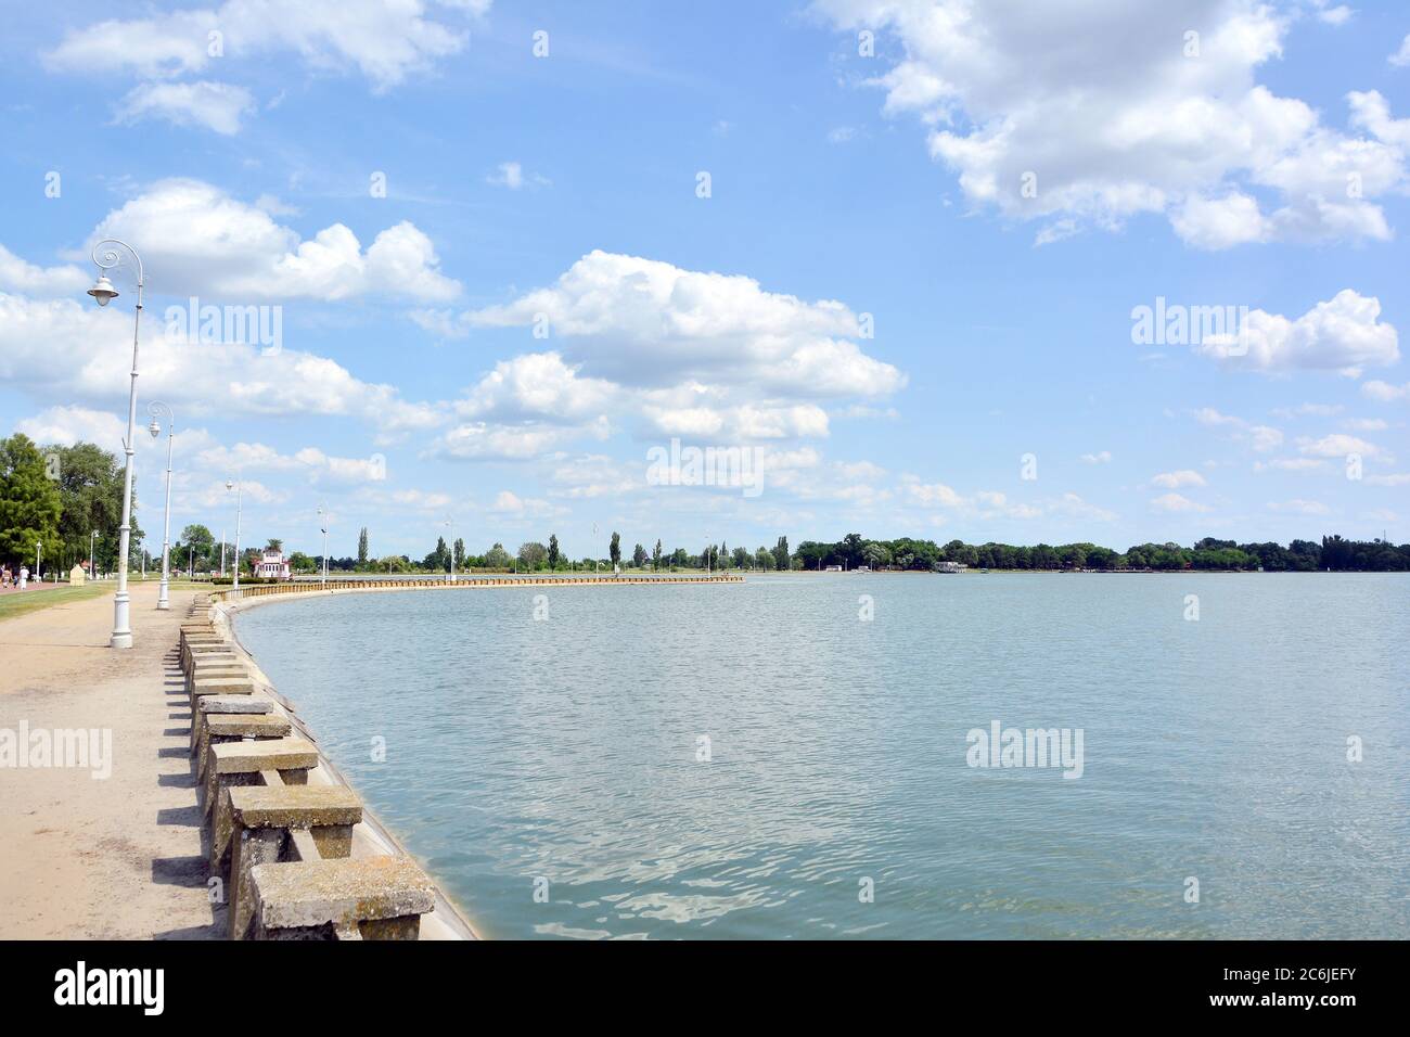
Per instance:
[[[407,591],[237,631],[488,937],[1410,937],[1406,576]],[[994,721],[1080,728],[1080,777],[970,766]]]

